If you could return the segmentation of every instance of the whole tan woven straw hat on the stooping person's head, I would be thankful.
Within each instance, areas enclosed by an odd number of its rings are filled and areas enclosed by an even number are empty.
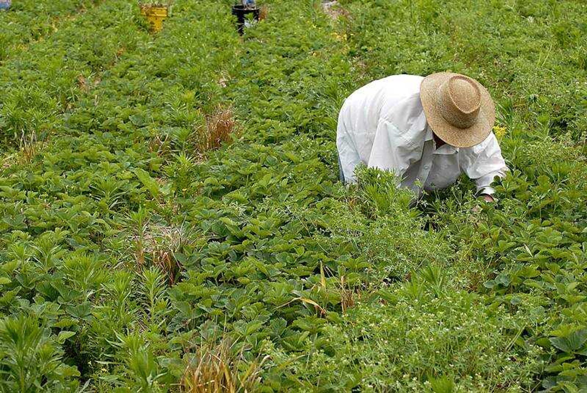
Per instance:
[[[420,100],[434,134],[456,147],[481,143],[495,123],[495,104],[473,78],[438,72],[420,84]]]

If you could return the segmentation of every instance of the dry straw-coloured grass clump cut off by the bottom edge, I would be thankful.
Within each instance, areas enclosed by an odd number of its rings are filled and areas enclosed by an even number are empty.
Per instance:
[[[268,359],[251,362],[239,372],[239,365],[246,365],[241,353],[234,354],[227,339],[220,344],[204,344],[193,354],[190,364],[181,378],[182,393],[248,393],[256,391],[261,381],[261,366]]]

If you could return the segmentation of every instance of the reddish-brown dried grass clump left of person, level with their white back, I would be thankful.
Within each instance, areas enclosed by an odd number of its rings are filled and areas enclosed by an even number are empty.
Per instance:
[[[216,113],[207,117],[206,126],[199,128],[198,150],[203,153],[230,143],[231,135],[237,132],[236,125],[232,109],[218,109]]]

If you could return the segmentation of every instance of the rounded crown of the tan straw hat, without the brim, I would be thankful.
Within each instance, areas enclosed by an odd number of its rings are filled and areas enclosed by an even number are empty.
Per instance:
[[[455,75],[440,85],[438,109],[447,121],[457,128],[468,128],[477,121],[481,92],[474,80]]]

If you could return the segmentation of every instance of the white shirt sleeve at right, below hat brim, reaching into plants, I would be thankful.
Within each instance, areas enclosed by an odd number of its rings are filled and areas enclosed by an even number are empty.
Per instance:
[[[495,189],[491,187],[493,179],[496,176],[505,177],[505,172],[508,171],[495,135],[490,133],[480,144],[461,149],[460,152],[461,171],[475,181],[477,195],[494,194]]]

